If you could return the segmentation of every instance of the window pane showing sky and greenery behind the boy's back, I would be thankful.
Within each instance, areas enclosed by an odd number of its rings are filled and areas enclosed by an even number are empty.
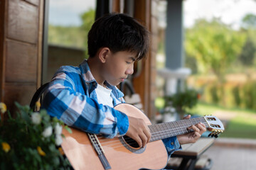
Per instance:
[[[78,66],[87,57],[87,33],[95,21],[95,8],[95,0],[46,1],[43,83],[60,66]]]

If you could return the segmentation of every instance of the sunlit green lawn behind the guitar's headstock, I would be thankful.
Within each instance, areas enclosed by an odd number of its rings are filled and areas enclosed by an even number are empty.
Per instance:
[[[234,113],[235,117],[231,118],[226,125],[225,132],[220,137],[235,137],[256,139],[256,112],[242,109],[228,109],[220,106],[198,103],[190,110],[190,113],[198,115],[214,115],[215,111],[224,111]]]

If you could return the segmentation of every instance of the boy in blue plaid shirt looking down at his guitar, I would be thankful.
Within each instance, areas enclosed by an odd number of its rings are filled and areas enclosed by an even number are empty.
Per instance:
[[[116,86],[134,72],[134,62],[145,57],[148,49],[149,33],[134,18],[121,13],[99,18],[88,33],[90,57],[79,67],[58,69],[43,108],[80,130],[105,137],[127,135],[145,147],[151,134],[144,120],[113,107],[124,103],[124,94]],[[194,132],[163,140],[169,155],[181,144],[196,142],[206,131],[201,123],[190,129]]]

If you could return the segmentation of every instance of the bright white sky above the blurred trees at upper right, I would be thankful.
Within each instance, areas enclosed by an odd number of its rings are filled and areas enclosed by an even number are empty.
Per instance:
[[[253,0],[186,0],[183,6],[185,27],[193,26],[196,18],[221,18],[226,24],[238,29],[247,13],[256,15],[256,1]]]

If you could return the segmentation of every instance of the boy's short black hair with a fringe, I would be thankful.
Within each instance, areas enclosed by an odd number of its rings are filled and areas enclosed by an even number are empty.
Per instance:
[[[98,18],[88,33],[89,56],[94,57],[101,47],[137,52],[137,60],[141,60],[149,50],[149,31],[126,14],[109,13]]]

